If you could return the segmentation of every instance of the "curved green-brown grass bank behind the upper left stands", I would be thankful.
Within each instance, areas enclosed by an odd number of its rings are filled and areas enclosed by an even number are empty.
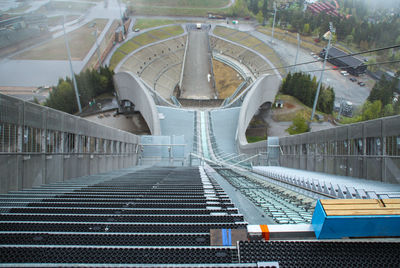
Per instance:
[[[180,25],[172,25],[137,35],[117,49],[117,51],[111,57],[110,68],[114,69],[126,55],[140,48],[141,46],[159,40],[164,40],[169,37],[182,34],[183,32],[183,28]]]

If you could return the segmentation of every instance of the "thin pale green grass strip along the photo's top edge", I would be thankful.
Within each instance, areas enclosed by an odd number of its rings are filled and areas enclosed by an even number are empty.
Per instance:
[[[169,8],[222,8],[229,0],[129,0],[134,6],[169,7]]]

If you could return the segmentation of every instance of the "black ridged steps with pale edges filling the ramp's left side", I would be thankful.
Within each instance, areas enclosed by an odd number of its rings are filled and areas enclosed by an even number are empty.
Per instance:
[[[210,229],[246,228],[202,168],[90,176],[0,196],[0,265],[232,263]]]

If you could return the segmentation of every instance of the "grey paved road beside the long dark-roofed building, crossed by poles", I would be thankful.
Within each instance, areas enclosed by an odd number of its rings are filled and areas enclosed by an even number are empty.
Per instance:
[[[284,61],[285,65],[294,64],[296,58],[297,47],[293,44],[286,43],[284,41],[274,39],[271,44],[271,37],[264,35],[257,31],[250,31],[250,34],[257,37],[258,39],[268,43],[276,51],[276,53]],[[299,57],[297,62],[309,62],[315,60],[308,50],[300,49]],[[327,63],[327,67],[332,67]],[[306,65],[300,65],[297,67],[298,70],[303,72],[310,72],[311,75],[315,75],[318,79],[320,77],[320,71],[322,69],[322,62],[315,62]],[[349,77],[344,77],[339,71],[328,70],[324,72],[323,83],[333,87],[337,99],[345,99],[351,101],[355,105],[361,105],[368,98],[370,89],[367,87],[360,87],[357,83],[353,83],[349,80]]]

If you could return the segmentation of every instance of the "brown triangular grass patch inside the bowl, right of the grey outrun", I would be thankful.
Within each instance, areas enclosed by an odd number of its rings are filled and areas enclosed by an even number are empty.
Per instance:
[[[222,62],[213,60],[215,86],[220,99],[230,97],[243,82],[238,73]]]

